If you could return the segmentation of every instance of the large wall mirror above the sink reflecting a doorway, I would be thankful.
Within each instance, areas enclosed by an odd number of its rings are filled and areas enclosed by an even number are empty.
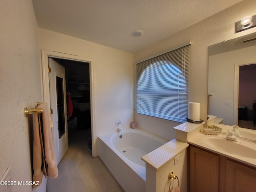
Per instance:
[[[256,33],[209,46],[208,115],[256,130]]]

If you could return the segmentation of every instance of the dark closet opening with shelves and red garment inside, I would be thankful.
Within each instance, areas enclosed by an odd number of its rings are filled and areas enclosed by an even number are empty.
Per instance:
[[[84,134],[87,146],[92,149],[90,64],[61,58],[52,59],[65,68],[69,140],[79,135],[76,132],[80,132]]]

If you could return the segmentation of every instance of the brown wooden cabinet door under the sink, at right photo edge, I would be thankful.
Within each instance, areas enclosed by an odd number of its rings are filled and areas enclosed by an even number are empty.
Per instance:
[[[256,191],[256,170],[226,160],[226,192]]]

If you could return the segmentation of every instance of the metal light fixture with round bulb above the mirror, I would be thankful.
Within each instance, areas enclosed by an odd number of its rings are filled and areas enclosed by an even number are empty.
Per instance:
[[[256,26],[256,15],[246,16],[246,17],[242,18],[241,21],[236,22],[235,25],[236,25],[236,30],[235,30],[236,33],[246,30],[246,29],[250,29],[252,27],[255,27]]]

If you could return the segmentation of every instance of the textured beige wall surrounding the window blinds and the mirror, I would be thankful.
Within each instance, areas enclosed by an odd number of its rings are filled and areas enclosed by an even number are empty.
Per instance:
[[[244,16],[255,15],[255,7],[255,0],[244,0],[186,28],[162,42],[158,42],[136,52],[134,54],[134,62],[191,41],[189,102],[200,102],[200,119],[206,121],[208,98],[208,46],[222,42],[223,40],[230,40],[238,36],[256,32],[256,28],[252,28],[236,34],[234,33],[235,22],[241,20]],[[147,121],[145,121],[145,119],[147,119]],[[156,120],[158,121],[157,129],[153,127],[155,124],[151,126],[152,122]],[[156,118],[141,117],[141,115],[136,113],[135,121],[143,128],[150,130],[150,132],[154,131],[155,134],[161,133],[166,137],[172,137],[170,136],[170,134],[172,134],[170,129],[176,126],[173,122],[166,123],[166,121]]]

